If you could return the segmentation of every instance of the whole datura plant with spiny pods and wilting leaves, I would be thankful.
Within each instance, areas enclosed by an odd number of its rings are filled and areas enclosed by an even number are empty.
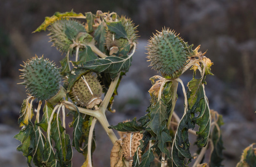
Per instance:
[[[114,12],[71,11],[46,17],[35,32],[46,30],[62,53],[61,67],[35,56],[20,70],[27,99],[15,138],[21,141],[17,150],[28,166],[72,166],[73,150],[84,155],[83,166],[93,166],[93,151],[100,149],[95,145],[96,121],[113,143],[110,166],[221,166],[223,119],[209,109],[205,84],[206,76],[213,75],[212,62],[200,46],[193,50],[169,28],[157,31],[146,49],[150,66],[161,76],[150,78],[146,115],[110,126],[105,112],[115,112],[114,96],[136,50],[137,26]],[[180,76],[187,70],[194,72],[185,90]],[[179,84],[183,111],[175,110]],[[73,121],[66,122],[66,116]],[[73,133],[67,134],[67,129]],[[189,134],[196,136],[194,154]]]

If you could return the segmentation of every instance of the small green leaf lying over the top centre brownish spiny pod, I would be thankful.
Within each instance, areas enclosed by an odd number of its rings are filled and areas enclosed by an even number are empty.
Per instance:
[[[108,22],[107,23],[108,29],[110,32],[115,33],[115,38],[127,38],[127,33],[125,31],[125,28],[122,24],[122,21],[118,22]]]

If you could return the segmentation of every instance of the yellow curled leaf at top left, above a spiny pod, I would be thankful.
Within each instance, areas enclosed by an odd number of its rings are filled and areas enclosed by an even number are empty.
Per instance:
[[[60,13],[56,12],[54,13],[54,16],[51,17],[45,17],[45,21],[33,32],[40,32],[42,30],[46,30],[46,28],[55,21],[59,19],[68,19],[68,18],[85,18],[85,16],[82,13],[75,13],[73,10],[71,12],[65,12]]]

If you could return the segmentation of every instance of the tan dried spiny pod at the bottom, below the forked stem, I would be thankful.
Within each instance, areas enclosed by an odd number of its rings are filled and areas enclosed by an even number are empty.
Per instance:
[[[122,153],[126,160],[132,160],[133,155],[136,153],[138,146],[141,144],[139,140],[141,140],[143,134],[140,132],[127,132],[122,137]],[[139,153],[141,150],[139,150]],[[139,159],[141,159],[141,154],[139,155]]]

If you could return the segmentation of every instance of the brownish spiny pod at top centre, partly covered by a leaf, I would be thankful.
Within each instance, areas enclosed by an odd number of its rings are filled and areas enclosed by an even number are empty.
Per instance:
[[[116,39],[114,33],[107,31],[106,38],[105,38],[105,45],[109,50],[109,55],[113,55],[113,53],[122,52],[128,45],[132,48],[132,43],[137,43],[137,26],[134,27],[134,23],[130,18],[120,17],[119,21],[122,22],[124,26],[124,30],[127,33],[127,38],[119,38]]]

